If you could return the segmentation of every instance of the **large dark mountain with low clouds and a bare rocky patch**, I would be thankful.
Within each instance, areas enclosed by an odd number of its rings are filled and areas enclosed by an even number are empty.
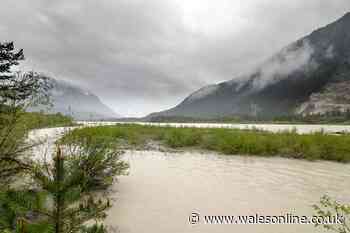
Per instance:
[[[146,118],[274,117],[349,111],[347,90],[350,13],[283,48],[252,72],[204,87],[176,107]]]

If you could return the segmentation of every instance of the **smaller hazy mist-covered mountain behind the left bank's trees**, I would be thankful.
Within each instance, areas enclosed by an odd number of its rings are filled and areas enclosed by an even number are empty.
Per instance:
[[[68,82],[48,78],[51,106],[35,106],[30,111],[60,112],[76,120],[103,120],[120,117],[93,93]]]

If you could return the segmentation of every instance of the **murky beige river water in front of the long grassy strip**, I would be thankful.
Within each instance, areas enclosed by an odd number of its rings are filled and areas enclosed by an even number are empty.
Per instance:
[[[64,128],[36,130],[52,150]],[[350,165],[215,153],[126,151],[130,174],[113,187],[106,223],[121,233],[324,232],[312,225],[191,225],[203,215],[312,214],[323,194],[350,203]]]

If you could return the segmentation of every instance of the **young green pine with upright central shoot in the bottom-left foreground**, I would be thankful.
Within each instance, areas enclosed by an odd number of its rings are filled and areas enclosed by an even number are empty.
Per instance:
[[[88,163],[87,156],[79,158],[81,164]],[[97,162],[90,168],[96,170],[100,165]],[[102,165],[97,170],[107,171],[113,166]],[[107,232],[98,223],[106,217],[110,200],[95,192],[89,172],[72,165],[72,157],[64,156],[58,147],[53,161],[37,163],[32,171],[31,189],[8,190],[0,195],[0,214],[1,210],[6,213],[0,218],[0,232],[1,229],[23,233]],[[95,224],[87,226],[91,221]]]

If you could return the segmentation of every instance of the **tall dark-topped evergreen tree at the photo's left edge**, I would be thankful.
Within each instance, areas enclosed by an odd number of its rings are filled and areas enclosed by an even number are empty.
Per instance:
[[[13,42],[0,43],[0,185],[13,175],[28,169],[21,155],[33,145],[26,145],[27,129],[21,117],[25,107],[47,100],[50,86],[34,72],[14,72],[24,59],[23,50],[15,51]]]

